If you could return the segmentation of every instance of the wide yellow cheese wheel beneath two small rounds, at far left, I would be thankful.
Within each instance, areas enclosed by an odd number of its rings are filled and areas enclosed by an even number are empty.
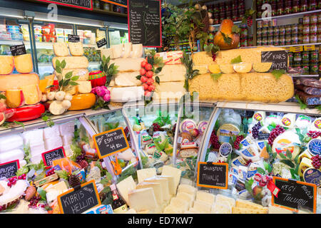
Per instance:
[[[39,85],[36,73],[0,75],[0,91],[21,89],[21,86]]]

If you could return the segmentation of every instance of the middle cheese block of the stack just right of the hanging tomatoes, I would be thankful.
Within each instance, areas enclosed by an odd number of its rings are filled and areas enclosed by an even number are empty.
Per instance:
[[[165,65],[162,71],[158,73],[158,77],[161,83],[185,81],[186,68],[183,64]],[[154,80],[155,80],[154,76]]]

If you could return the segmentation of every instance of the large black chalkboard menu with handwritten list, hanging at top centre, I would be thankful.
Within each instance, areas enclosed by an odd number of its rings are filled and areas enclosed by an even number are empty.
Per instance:
[[[128,0],[128,33],[131,43],[162,46],[160,0]]]

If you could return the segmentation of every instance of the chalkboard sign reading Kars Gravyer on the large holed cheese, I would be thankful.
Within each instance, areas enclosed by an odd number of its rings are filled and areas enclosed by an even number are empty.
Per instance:
[[[287,71],[287,51],[262,51],[261,62],[272,63],[271,70]]]

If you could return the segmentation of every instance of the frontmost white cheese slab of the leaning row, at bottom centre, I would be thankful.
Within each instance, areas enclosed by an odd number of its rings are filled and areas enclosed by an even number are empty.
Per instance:
[[[142,188],[139,190],[130,190],[128,192],[128,201],[129,206],[135,209],[137,212],[149,210],[153,213],[158,210],[158,204],[154,190],[151,187]]]

